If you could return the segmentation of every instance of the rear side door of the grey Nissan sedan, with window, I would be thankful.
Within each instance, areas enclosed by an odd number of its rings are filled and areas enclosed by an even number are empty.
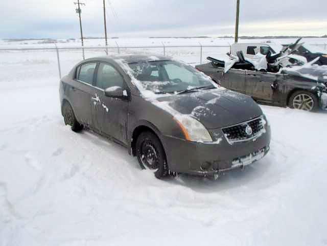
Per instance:
[[[91,88],[94,81],[94,71],[96,62],[88,62],[78,66],[74,85],[71,86],[69,92],[75,115],[77,119],[85,126],[92,124],[90,100]]]

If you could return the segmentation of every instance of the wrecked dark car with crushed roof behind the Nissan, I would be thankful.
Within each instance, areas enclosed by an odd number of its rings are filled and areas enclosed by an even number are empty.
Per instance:
[[[256,62],[245,58],[242,52],[238,52],[238,57],[225,59],[227,62],[211,57],[207,59],[211,62],[196,66],[199,71],[255,101],[308,111],[327,106],[327,66],[313,65],[319,58],[302,66],[282,69],[269,63],[270,53],[267,57],[261,55]]]

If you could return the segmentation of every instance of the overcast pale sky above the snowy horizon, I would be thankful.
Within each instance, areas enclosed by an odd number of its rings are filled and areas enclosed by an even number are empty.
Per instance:
[[[110,0],[114,11],[105,1],[110,36],[223,36],[235,28],[236,0]],[[240,1],[240,35],[327,34],[327,0]],[[73,2],[1,0],[0,38],[79,37]],[[83,3],[84,36],[103,36],[103,1]]]

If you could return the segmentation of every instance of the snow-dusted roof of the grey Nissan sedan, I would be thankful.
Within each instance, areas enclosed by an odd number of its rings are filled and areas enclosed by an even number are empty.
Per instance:
[[[158,55],[140,55],[140,54],[129,54],[129,55],[109,55],[89,58],[85,61],[115,61],[120,60],[126,63],[137,63],[147,61],[167,61],[171,60],[169,57],[158,56]]]

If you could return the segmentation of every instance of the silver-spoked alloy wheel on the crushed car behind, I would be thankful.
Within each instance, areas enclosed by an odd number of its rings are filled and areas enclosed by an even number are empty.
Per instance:
[[[290,97],[289,107],[306,111],[317,111],[319,109],[319,100],[311,92],[297,91]]]

